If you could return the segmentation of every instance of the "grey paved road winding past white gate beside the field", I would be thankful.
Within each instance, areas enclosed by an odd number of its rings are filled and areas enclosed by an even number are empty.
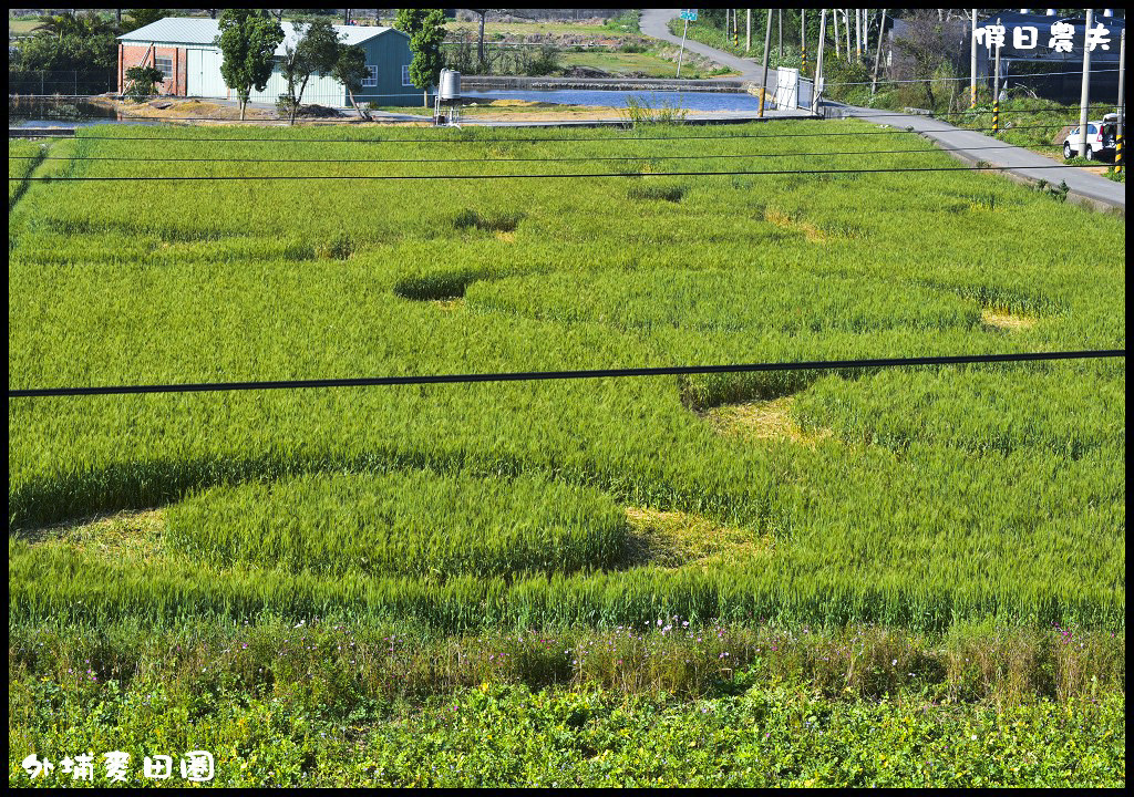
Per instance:
[[[680,42],[680,36],[674,36],[666,27],[666,23],[679,14],[675,8],[649,8],[642,11],[642,33],[667,42]],[[708,44],[686,41],[685,46],[694,52],[706,56],[714,61],[726,63],[734,69],[744,71],[746,79],[760,82],[759,67],[750,60],[737,58]],[[769,91],[775,86],[775,77],[768,75]],[[1009,167],[1001,173],[1023,180],[1047,180],[1052,185],[1067,183],[1073,196],[1090,200],[1093,204],[1100,203],[1106,206],[1126,210],[1126,185],[1115,183],[1106,177],[1093,175],[1085,169],[1060,168],[1063,163],[1036,154],[1031,150],[1021,146],[1008,146],[1006,149],[987,150],[984,147],[1005,147],[1004,142],[985,136],[975,130],[964,130],[953,127],[940,119],[932,119],[921,116],[900,115],[894,116],[892,111],[883,111],[870,108],[855,108],[853,105],[841,105],[840,103],[823,103],[828,107],[828,112],[845,115],[860,119],[874,117],[878,124],[891,125],[894,127],[912,127],[915,132],[937,142],[949,150],[957,150],[950,153],[960,160],[970,163],[985,161],[991,166]],[[886,116],[881,116],[886,115]]]

